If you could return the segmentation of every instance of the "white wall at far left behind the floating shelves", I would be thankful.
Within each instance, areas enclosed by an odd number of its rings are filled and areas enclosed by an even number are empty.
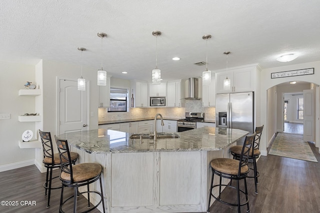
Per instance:
[[[35,113],[35,98],[18,96],[18,90],[24,89],[26,81],[35,83],[34,70],[32,65],[0,61],[0,113],[11,115],[11,119],[0,120],[0,172],[8,167],[16,168],[34,162],[34,149],[20,149],[18,146],[25,130],[35,133],[33,122],[18,121],[19,115]]]

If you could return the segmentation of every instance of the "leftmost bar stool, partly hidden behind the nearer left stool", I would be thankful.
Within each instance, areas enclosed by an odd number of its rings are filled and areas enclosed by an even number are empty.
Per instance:
[[[43,187],[45,189],[44,197],[48,196],[48,203],[46,208],[50,207],[50,195],[51,190],[61,189],[61,187],[51,187],[52,180],[59,177],[53,177],[52,178],[52,170],[54,168],[60,167],[60,158],[58,153],[53,153],[52,149],[52,140],[51,140],[51,134],[50,132],[42,132],[39,130],[39,135],[41,138],[42,143],[42,150],[43,150],[43,161],[44,167],[46,168],[46,178],[45,182],[43,184]],[[76,158],[78,157],[78,154],[75,152],[70,153],[71,154],[71,163],[75,164]],[[46,192],[48,191],[48,194]]]

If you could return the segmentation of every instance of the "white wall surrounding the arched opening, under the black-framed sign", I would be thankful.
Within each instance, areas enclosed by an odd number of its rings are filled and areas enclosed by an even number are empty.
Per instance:
[[[297,69],[306,69],[306,68],[314,68],[314,74],[312,75],[303,75],[303,76],[292,76],[292,77],[285,77],[285,78],[275,78],[271,79],[271,73],[273,72],[281,72],[281,71],[289,71],[289,70],[297,70]],[[303,64],[295,64],[295,65],[287,65],[287,66],[279,66],[269,69],[262,69],[261,71],[261,81],[260,81],[260,88],[261,88],[261,108],[260,108],[260,114],[261,114],[261,124],[267,123],[267,89],[289,81],[305,81],[310,83],[315,83],[317,85],[320,85],[320,61],[315,62],[309,62],[309,63],[303,63]],[[318,89],[315,90],[318,92]],[[316,94],[318,97],[319,94]],[[317,100],[318,101],[318,100]],[[274,109],[273,109],[274,110]],[[316,114],[318,115],[319,108],[316,108]],[[319,122],[318,118],[316,118],[316,129],[319,129]],[[274,124],[276,125],[276,124]],[[263,132],[267,132],[268,134],[262,133],[261,142],[260,142],[260,150],[262,155],[266,155],[266,148],[267,148],[267,142],[270,140],[270,134],[269,134],[269,125],[267,126],[266,130]],[[274,132],[275,133],[275,132]],[[318,137],[316,137],[316,143],[318,143]]]

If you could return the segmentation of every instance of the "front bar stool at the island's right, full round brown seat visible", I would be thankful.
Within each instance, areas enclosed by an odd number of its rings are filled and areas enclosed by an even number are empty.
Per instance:
[[[229,158],[217,158],[213,159],[210,162],[211,170],[212,170],[212,178],[211,178],[211,184],[210,184],[210,191],[209,191],[209,202],[208,202],[208,209],[207,212],[209,212],[210,209],[210,202],[211,197],[213,197],[218,202],[221,202],[222,204],[226,204],[229,206],[237,206],[238,213],[240,213],[240,206],[247,205],[246,212],[250,212],[249,210],[249,199],[248,199],[248,192],[246,188],[246,176],[249,172],[249,168],[247,166],[248,159],[249,159],[249,152],[253,145],[253,140],[255,137],[255,133],[252,135],[248,135],[245,137],[241,154],[240,154],[240,160],[235,159],[229,159]],[[213,178],[214,175],[219,176],[220,181],[218,185],[213,185]],[[236,187],[231,186],[231,184],[222,184],[222,178],[230,179],[230,181],[235,180],[236,181]],[[239,188],[239,180],[244,181],[244,191]],[[219,196],[215,197],[212,194],[212,189],[215,187],[219,187]],[[237,194],[237,203],[229,203],[226,201],[223,201],[221,199],[221,187],[229,187],[231,189],[236,190]],[[245,202],[240,203],[240,192],[245,195]]]

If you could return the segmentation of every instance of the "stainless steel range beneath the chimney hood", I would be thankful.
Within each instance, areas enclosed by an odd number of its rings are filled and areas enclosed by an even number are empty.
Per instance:
[[[196,122],[204,121],[204,113],[203,112],[186,112],[185,118],[177,120],[177,131],[183,132],[196,128]]]

